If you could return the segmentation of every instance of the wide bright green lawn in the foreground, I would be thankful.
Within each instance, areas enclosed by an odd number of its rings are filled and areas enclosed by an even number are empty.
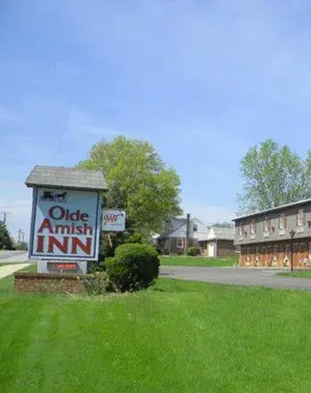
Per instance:
[[[159,279],[134,295],[0,280],[0,391],[309,392],[311,294]]]

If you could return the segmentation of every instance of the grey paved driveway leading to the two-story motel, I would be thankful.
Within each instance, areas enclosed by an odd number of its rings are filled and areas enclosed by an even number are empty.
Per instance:
[[[273,269],[232,269],[219,267],[161,266],[160,275],[171,279],[217,282],[245,286],[282,287],[311,290],[311,279],[291,279]]]

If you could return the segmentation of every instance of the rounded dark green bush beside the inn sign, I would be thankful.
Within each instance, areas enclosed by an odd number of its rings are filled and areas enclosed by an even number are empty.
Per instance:
[[[160,260],[156,250],[144,244],[123,244],[114,257],[105,259],[108,277],[121,292],[147,288],[154,283]]]

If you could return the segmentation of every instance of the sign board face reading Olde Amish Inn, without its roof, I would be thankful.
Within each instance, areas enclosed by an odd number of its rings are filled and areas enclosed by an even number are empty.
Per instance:
[[[29,258],[97,260],[100,215],[97,191],[34,188]]]

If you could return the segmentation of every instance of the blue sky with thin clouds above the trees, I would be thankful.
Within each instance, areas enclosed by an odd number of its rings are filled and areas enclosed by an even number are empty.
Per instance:
[[[28,0],[0,4],[0,211],[28,232],[35,164],[144,138],[203,221],[235,215],[239,161],[265,138],[311,147],[311,2]]]

